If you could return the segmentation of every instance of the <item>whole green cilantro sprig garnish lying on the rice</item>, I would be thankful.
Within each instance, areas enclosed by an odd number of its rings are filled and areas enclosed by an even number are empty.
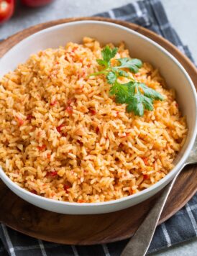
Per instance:
[[[100,74],[106,75],[106,80],[111,84],[109,94],[115,97],[116,103],[127,104],[127,112],[134,112],[137,116],[143,116],[145,109],[152,111],[155,100],[163,101],[164,97],[145,83],[139,83],[122,68],[128,68],[132,73],[137,73],[142,67],[142,61],[138,59],[119,58],[116,59],[119,65],[111,66],[111,59],[115,57],[118,48],[111,49],[109,46],[104,47],[101,51],[103,59],[96,60],[97,63],[104,67],[91,76]],[[119,83],[119,77],[129,78],[128,83]]]

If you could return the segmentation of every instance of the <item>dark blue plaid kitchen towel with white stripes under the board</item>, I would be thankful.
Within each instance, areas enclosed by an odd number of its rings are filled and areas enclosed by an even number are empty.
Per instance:
[[[97,14],[96,16],[122,19],[147,27],[168,39],[193,61],[188,47],[183,45],[175,30],[171,27],[160,1],[137,1],[133,4],[127,4],[127,6],[112,9],[109,12]],[[197,237],[197,194],[193,196],[183,209],[157,227],[148,254],[193,237]],[[0,225],[0,239],[1,256],[118,256],[128,242],[128,240],[124,240],[93,246],[53,244],[27,237],[24,234],[9,229],[4,224]],[[193,252],[193,255],[195,255],[195,252]]]

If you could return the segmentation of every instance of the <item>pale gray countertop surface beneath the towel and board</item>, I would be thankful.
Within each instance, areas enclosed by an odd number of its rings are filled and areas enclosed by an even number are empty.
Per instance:
[[[56,3],[36,10],[19,8],[17,14],[14,14],[14,17],[9,22],[0,26],[0,39],[6,38],[33,24],[52,19],[91,16],[132,1],[135,0],[56,0]],[[178,35],[180,35],[183,43],[191,49],[197,63],[197,0],[161,1],[170,22],[178,32]],[[197,255],[197,239],[178,244],[153,255],[195,256]]]

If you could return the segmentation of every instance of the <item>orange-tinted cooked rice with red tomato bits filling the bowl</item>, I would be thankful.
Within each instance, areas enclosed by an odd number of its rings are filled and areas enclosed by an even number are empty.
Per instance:
[[[124,57],[121,43],[116,58]],[[165,101],[142,117],[128,114],[104,76],[89,76],[97,58],[99,42],[85,37],[40,51],[1,78],[0,165],[17,185],[60,201],[101,202],[142,191],[173,168],[187,134],[174,91],[144,63],[134,78]]]

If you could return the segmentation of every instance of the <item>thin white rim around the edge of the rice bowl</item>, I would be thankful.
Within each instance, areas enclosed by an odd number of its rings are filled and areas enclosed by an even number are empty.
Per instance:
[[[168,52],[168,50],[165,50],[165,48],[163,48],[157,42],[154,42],[153,40],[151,40],[149,37],[146,37],[145,35],[142,35],[139,32],[136,32],[136,31],[134,31],[133,29],[131,29],[129,27],[124,27],[122,25],[115,24],[115,23],[98,21],[98,20],[81,20],[81,21],[72,21],[72,22],[67,22],[67,23],[63,23],[63,24],[57,24],[57,25],[54,25],[52,27],[47,27],[46,29],[42,29],[39,32],[35,32],[34,34],[29,35],[28,37],[24,38],[24,40],[21,40],[20,42],[18,42],[17,45],[14,45],[14,47],[12,47],[10,50],[8,50],[2,56],[1,60],[6,58],[6,55],[9,54],[10,52],[12,52],[12,50],[14,50],[14,48],[18,47],[18,45],[20,45],[21,43],[24,43],[24,42],[27,43],[28,41],[32,40],[33,37],[37,37],[37,35],[42,35],[42,33],[45,33],[45,32],[52,32],[52,31],[54,31],[56,29],[59,29],[61,27],[70,27],[70,26],[75,27],[75,25],[80,25],[80,24],[101,24],[103,26],[116,27],[118,29],[122,29],[126,32],[129,32],[130,34],[133,34],[137,37],[142,38],[142,40],[145,40],[146,42],[149,42],[151,45],[154,45],[158,50],[160,50],[160,52],[162,52],[168,58],[170,58],[170,60],[173,61],[178,66],[180,71],[183,73],[183,75],[187,79],[188,83],[190,84],[191,90],[193,92],[193,100],[196,104],[196,109],[197,109],[196,88],[193,85],[193,81],[191,80],[187,71],[185,70],[185,68],[183,68],[183,65],[181,65],[180,62],[170,52]],[[1,60],[0,60],[0,64],[1,64]],[[6,175],[6,173],[4,173],[4,170],[1,168],[1,166],[0,166],[0,178],[4,181],[4,183],[6,183],[6,184],[8,183],[12,188],[14,187],[14,189],[16,191],[19,191],[21,193],[26,194],[27,196],[35,198],[35,200],[38,199],[40,201],[45,201],[46,203],[60,204],[60,205],[63,205],[63,206],[78,206],[78,207],[81,207],[81,206],[86,206],[86,207],[87,206],[106,206],[106,205],[110,205],[110,204],[119,204],[123,201],[127,201],[127,200],[132,199],[132,198],[133,199],[138,198],[139,196],[143,196],[147,193],[151,193],[151,191],[155,191],[155,189],[157,189],[158,187],[161,187],[164,183],[166,183],[165,184],[165,186],[166,186],[170,182],[170,180],[173,178],[173,176],[176,173],[178,173],[178,170],[183,168],[183,166],[185,164],[185,160],[187,160],[188,155],[191,152],[193,144],[196,140],[196,134],[197,134],[197,111],[196,111],[196,122],[195,122],[195,125],[193,127],[193,134],[191,135],[191,139],[188,141],[188,145],[185,148],[182,157],[180,157],[180,160],[178,161],[178,163],[176,163],[174,168],[172,170],[170,170],[170,173],[168,173],[164,178],[157,181],[157,183],[153,184],[152,186],[150,186],[149,188],[146,188],[143,191],[139,191],[138,193],[135,193],[133,195],[125,196],[125,197],[114,199],[114,200],[111,200],[111,201],[104,201],[104,202],[97,202],[97,203],[75,203],[75,202],[69,202],[69,201],[58,201],[58,200],[55,200],[55,199],[52,199],[52,198],[45,198],[43,196],[39,196],[39,195],[36,195],[34,193],[31,193],[31,192],[27,191],[25,188],[21,188],[20,186],[18,186],[16,183],[14,183],[14,181],[12,181]]]

